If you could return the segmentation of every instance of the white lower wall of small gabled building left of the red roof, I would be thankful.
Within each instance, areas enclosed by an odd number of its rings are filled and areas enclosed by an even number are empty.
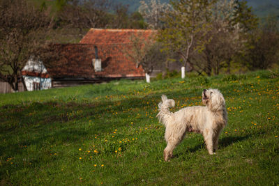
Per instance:
[[[40,90],[52,88],[52,79],[43,77],[23,76],[27,91],[33,91],[33,83],[40,84]]]

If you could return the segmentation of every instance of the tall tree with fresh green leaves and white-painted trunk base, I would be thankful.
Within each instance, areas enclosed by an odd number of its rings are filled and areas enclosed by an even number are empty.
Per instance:
[[[195,52],[202,52],[211,38],[206,33],[211,29],[209,9],[213,1],[179,0],[171,1],[173,10],[167,13],[164,28],[159,31],[159,40],[167,52],[175,52],[182,59],[181,77],[185,77],[185,67],[193,67],[190,59]]]

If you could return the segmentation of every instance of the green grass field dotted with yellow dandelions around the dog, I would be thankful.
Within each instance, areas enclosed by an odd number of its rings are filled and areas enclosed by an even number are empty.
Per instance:
[[[229,116],[217,155],[186,134],[163,161],[160,95],[182,107],[218,88]],[[278,185],[279,77],[120,81],[0,95],[0,185]]]

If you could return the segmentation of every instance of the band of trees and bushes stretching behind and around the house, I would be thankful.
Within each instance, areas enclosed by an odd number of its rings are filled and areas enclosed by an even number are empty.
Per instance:
[[[28,59],[47,63],[50,42],[79,42],[90,28],[156,29],[157,40],[137,61],[149,73],[169,61],[198,75],[278,68],[278,19],[259,21],[246,1],[140,3],[139,12],[128,13],[110,0],[0,0],[0,79],[17,91]],[[154,56],[165,59],[154,63]]]

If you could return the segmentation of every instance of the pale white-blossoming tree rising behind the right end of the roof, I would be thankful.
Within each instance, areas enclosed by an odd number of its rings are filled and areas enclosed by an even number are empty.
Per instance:
[[[160,0],[140,1],[139,13],[144,17],[150,29],[162,29],[163,17],[172,9],[168,3],[161,3]]]

